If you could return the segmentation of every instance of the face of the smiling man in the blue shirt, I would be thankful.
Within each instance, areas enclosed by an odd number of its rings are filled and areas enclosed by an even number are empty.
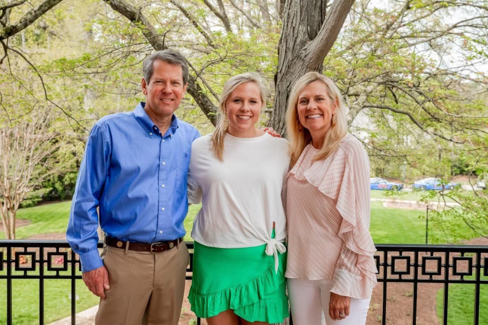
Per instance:
[[[183,84],[183,69],[165,61],[153,62],[153,74],[148,83],[142,79],[142,93],[146,96],[144,109],[149,116],[171,117],[186,91]]]

